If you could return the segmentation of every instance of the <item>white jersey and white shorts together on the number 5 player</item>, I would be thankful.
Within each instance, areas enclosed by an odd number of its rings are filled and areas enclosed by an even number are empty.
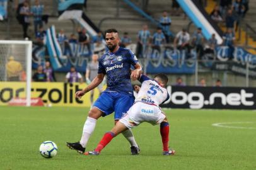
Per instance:
[[[170,97],[167,90],[162,88],[158,82],[144,75],[139,81],[142,83],[141,89],[139,89],[134,105],[129,109],[127,115],[119,120],[127,128],[136,127],[142,122],[158,125],[166,117],[158,105]]]

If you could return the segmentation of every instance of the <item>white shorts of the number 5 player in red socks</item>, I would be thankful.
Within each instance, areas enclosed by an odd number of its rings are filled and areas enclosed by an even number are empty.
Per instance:
[[[134,103],[128,110],[127,115],[119,121],[127,128],[133,128],[143,122],[158,125],[165,119],[165,114],[159,106],[149,105],[143,102]]]

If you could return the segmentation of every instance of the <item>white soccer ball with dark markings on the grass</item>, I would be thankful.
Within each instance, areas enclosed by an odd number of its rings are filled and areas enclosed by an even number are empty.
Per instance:
[[[45,158],[51,158],[57,155],[57,145],[52,141],[43,142],[40,147],[40,154]]]

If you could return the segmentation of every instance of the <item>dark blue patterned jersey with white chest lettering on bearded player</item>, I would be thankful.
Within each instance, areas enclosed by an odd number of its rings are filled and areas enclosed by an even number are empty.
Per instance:
[[[98,74],[107,74],[106,91],[133,95],[130,69],[137,62],[137,58],[131,50],[122,47],[119,47],[115,53],[104,54],[99,60]]]

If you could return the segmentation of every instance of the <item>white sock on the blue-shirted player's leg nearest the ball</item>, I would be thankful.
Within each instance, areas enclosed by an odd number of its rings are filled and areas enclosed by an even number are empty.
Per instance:
[[[84,123],[83,135],[80,140],[80,144],[83,147],[86,147],[86,144],[90,139],[91,133],[93,133],[95,126],[96,126],[96,119],[88,116]]]

